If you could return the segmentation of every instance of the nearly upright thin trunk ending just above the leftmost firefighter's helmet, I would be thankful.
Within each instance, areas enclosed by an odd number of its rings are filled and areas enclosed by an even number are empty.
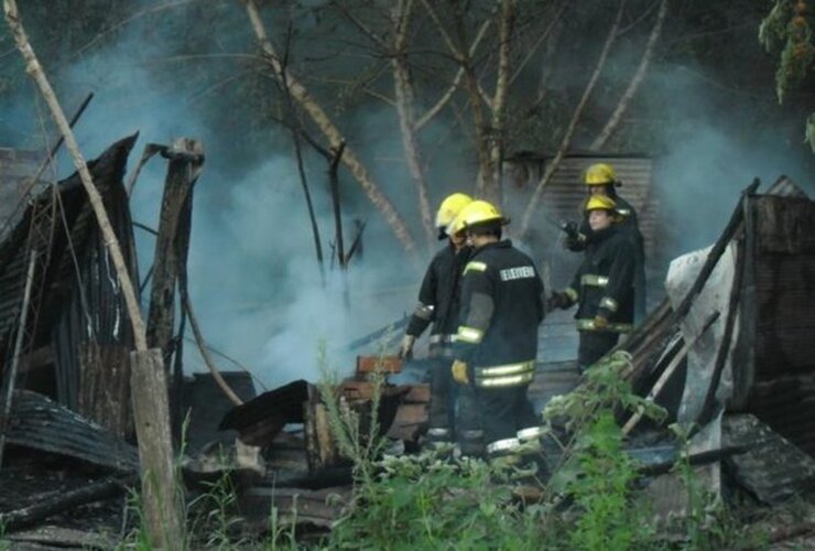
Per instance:
[[[408,170],[411,173],[413,185],[419,197],[419,213],[422,217],[427,247],[433,247],[435,233],[433,231],[433,219],[431,218],[431,206],[427,193],[427,180],[422,169],[422,155],[416,136],[415,95],[410,67],[408,66],[406,47],[408,30],[410,29],[413,12],[413,0],[399,0],[394,13],[394,40],[393,57],[393,90],[396,98],[396,112],[399,114],[399,127],[402,133],[402,147],[404,148]]]

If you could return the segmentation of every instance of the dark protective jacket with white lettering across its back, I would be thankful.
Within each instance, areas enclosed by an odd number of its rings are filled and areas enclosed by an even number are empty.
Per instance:
[[[476,387],[528,385],[543,320],[543,282],[534,262],[503,240],[478,248],[464,270],[456,357]]]

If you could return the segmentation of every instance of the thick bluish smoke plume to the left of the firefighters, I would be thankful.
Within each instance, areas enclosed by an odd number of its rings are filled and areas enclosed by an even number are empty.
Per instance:
[[[282,127],[270,131],[268,121],[259,123],[262,112],[254,110],[263,105],[262,95],[276,94],[272,83],[263,77],[261,86],[250,86],[249,93],[261,99],[241,96],[238,85],[213,91],[221,80],[249,71],[249,64],[241,65],[225,52],[242,54],[254,47],[242,7],[227,4],[215,6],[218,21],[211,52],[183,50],[183,35],[176,31],[193,19],[195,6],[189,11],[182,7],[163,18],[129,24],[53,77],[57,90],[64,90],[61,99],[67,110],[87,90],[96,94],[76,127],[88,159],[137,130],[140,139],[130,170],[148,142],[169,144],[184,136],[204,143],[206,162],[195,188],[188,276],[207,342],[248,366],[268,388],[294,378],[316,380],[320,343],[328,350],[330,367],[350,375],[356,354],[377,350],[376,345],[350,350],[348,344],[412,310],[421,274],[408,263],[384,220],[344,169],[346,252],[355,237],[352,222],[365,220],[367,227],[365,255],[351,262],[347,273],[339,270],[332,260],[335,224],[327,163],[304,145],[325,253],[325,278],[320,277],[291,134]],[[309,14],[303,11],[303,17]],[[206,63],[173,65],[175,57],[210,54],[215,57]],[[398,162],[402,151],[395,110],[350,109],[345,118],[351,123],[343,125],[349,143],[359,148],[405,218],[416,220],[415,193],[403,162]],[[73,165],[63,155],[59,174],[70,172]],[[134,220],[157,227],[165,172],[166,162],[159,156],[142,171],[131,198]],[[414,234],[422,244],[423,236]],[[153,260],[154,239],[139,229],[135,235],[143,278]],[[142,298],[145,311],[149,296],[150,285]],[[220,359],[218,364],[231,369]],[[206,369],[192,343],[185,345],[185,369]]]

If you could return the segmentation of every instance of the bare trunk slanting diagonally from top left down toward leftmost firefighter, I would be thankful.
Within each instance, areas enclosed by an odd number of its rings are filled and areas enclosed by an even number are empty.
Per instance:
[[[246,0],[246,8],[254,35],[265,54],[267,62],[274,71],[274,75],[279,76],[283,71],[285,71],[286,82],[292,97],[301,105],[303,110],[308,114],[317,128],[319,128],[323,136],[328,140],[329,147],[333,149],[339,148],[340,143],[344,142],[343,134],[339,129],[328,118],[328,115],[323,110],[319,104],[317,104],[314,97],[312,97],[306,87],[301,84],[291,71],[284,68],[280,63],[278,54],[274,51],[274,46],[267,34],[256,0]],[[366,195],[373,204],[374,208],[377,208],[385,219],[404,249],[408,252],[415,253],[416,242],[402,219],[402,216],[388,197],[382,194],[379,185],[373,181],[368,169],[357,158],[351,148],[346,148],[345,153],[343,154],[343,163],[348,168],[348,170],[350,170],[351,174],[366,192]]]

